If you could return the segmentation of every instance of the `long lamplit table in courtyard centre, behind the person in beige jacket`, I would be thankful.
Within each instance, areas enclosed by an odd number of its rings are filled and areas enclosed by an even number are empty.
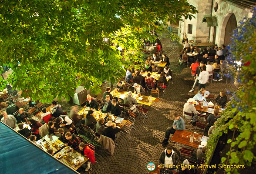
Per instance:
[[[110,92],[110,94],[112,94],[112,96],[113,97],[118,97],[118,98],[121,98],[121,99],[124,99],[125,98],[125,96],[128,94],[128,92],[127,91],[117,91],[117,90],[112,90],[111,92]],[[138,100],[138,97],[135,97],[135,94],[132,94],[132,97],[135,99],[135,100],[137,100],[137,102],[139,103],[139,104],[145,104],[145,105],[147,105],[147,106],[150,106],[153,102],[154,102],[154,100],[155,100],[155,97],[152,97],[152,100],[151,101],[149,101],[148,100],[148,97],[149,96],[146,96],[146,95],[141,95],[142,96],[142,100]]]

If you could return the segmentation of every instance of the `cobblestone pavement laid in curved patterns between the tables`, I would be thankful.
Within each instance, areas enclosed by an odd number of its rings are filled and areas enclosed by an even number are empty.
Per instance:
[[[164,52],[170,59],[170,62],[178,61],[178,53],[180,46],[168,39],[161,40]],[[224,80],[223,80],[224,82]],[[234,91],[235,87],[232,83],[220,84],[213,81],[207,84],[206,90],[217,96],[220,90]],[[169,82],[165,95],[160,96],[160,101],[152,104],[149,108],[148,119],[145,123],[135,121],[136,130],[132,130],[131,134],[124,133],[118,140],[115,152],[111,156],[107,150],[96,148],[96,161],[93,164],[91,174],[148,174],[146,165],[149,162],[158,164],[158,159],[162,151],[165,149],[160,142],[164,138],[165,130],[173,123],[173,113],[179,111],[182,114],[183,105],[194,93],[189,93],[194,81],[191,80],[190,69],[184,68],[180,74],[173,74],[173,80]],[[230,97],[230,96],[228,96]],[[185,130],[196,131],[188,121],[185,124]],[[179,153],[179,149],[185,145],[169,142]],[[196,149],[195,149],[196,150]],[[180,163],[184,158],[180,159]],[[84,173],[82,171],[79,171]]]

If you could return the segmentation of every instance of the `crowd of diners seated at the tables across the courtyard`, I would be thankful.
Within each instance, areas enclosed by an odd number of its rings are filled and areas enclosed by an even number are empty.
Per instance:
[[[159,39],[156,38],[155,40],[156,45],[159,46],[160,49],[162,49],[162,44]],[[155,44],[154,43],[154,44]],[[150,45],[150,42],[145,42],[145,45]],[[186,49],[186,47],[189,47]],[[222,46],[223,49],[225,49],[225,46]],[[159,49],[159,50],[160,50]],[[193,46],[190,46],[188,43],[188,40],[184,38],[184,49],[182,50],[181,56],[187,56],[186,53],[190,52],[192,53],[194,51]],[[183,107],[183,113],[189,113],[192,114],[186,115],[186,114],[180,114],[179,112],[174,113],[174,122],[171,127],[168,127],[165,131],[165,135],[162,141],[162,144],[168,144],[167,148],[162,152],[159,158],[158,164],[170,164],[170,165],[176,165],[179,162],[179,156],[175,152],[175,149],[172,147],[171,144],[168,143],[170,134],[174,134],[176,130],[185,130],[185,119],[190,120],[190,123],[195,126],[196,122],[199,121],[199,117],[197,114],[199,112],[195,109],[195,106],[193,105],[194,101],[197,100],[199,102],[207,100],[207,97],[209,96],[210,92],[205,90],[205,84],[209,81],[209,72],[213,73],[213,77],[219,78],[221,80],[221,76],[217,77],[216,73],[219,73],[219,69],[221,69],[222,72],[225,71],[225,65],[223,64],[223,60],[220,60],[219,56],[222,56],[226,53],[226,50],[221,50],[217,46],[213,47],[209,50],[209,52],[205,49],[203,51],[203,56],[200,58],[200,56],[197,56],[196,60],[193,57],[191,69],[195,72],[194,79],[195,83],[193,85],[193,88],[190,92],[195,90],[195,87],[197,84],[199,84],[198,93],[195,94],[193,98],[189,98],[189,100],[184,104]],[[185,54],[185,55],[184,55]],[[209,55],[215,55],[215,61],[214,64],[212,64],[208,60],[208,54]],[[195,60],[195,61],[194,61]],[[165,62],[167,63],[164,68],[157,67],[155,64],[151,63],[151,61],[159,61],[159,62]],[[158,52],[154,53],[152,56],[148,57],[148,60],[145,61],[145,65],[142,69],[135,70],[133,66],[130,66],[126,70],[126,81],[118,81],[117,86],[115,87],[118,91],[127,91],[127,85],[126,84],[133,84],[132,87],[134,87],[134,92],[128,91],[127,96],[121,100],[117,97],[113,97],[111,95],[111,88],[106,87],[105,92],[103,93],[103,103],[101,106],[99,106],[97,100],[91,95],[87,95],[87,100],[84,107],[89,107],[90,110],[88,110],[88,114],[85,116],[85,118],[82,115],[78,114],[79,107],[73,106],[71,107],[70,113],[67,115],[63,115],[63,110],[61,108],[61,105],[58,104],[56,101],[52,101],[51,111],[46,111],[44,108],[42,110],[43,114],[41,114],[41,118],[44,120],[48,125],[48,134],[47,136],[56,135],[59,137],[59,140],[64,142],[66,146],[72,147],[72,151],[76,150],[80,152],[83,155],[86,155],[89,158],[89,161],[83,165],[85,168],[85,171],[88,171],[91,167],[91,163],[95,163],[95,157],[94,157],[94,151],[91,150],[90,147],[86,145],[86,142],[83,142],[78,136],[77,136],[77,127],[80,127],[81,124],[84,124],[91,129],[95,130],[97,133],[97,136],[100,136],[101,134],[111,138],[113,141],[116,138],[116,134],[120,132],[120,129],[115,126],[115,124],[112,123],[112,121],[105,121],[103,118],[100,118],[98,121],[94,118],[94,112],[95,110],[100,109],[102,113],[109,113],[119,117],[121,115],[121,107],[118,103],[123,102],[124,104],[127,104],[129,107],[129,110],[136,113],[136,105],[138,105],[137,100],[135,100],[132,97],[132,94],[141,94],[145,95],[145,88],[148,86],[152,87],[153,89],[158,88],[158,83],[163,83],[164,86],[161,87],[162,90],[165,90],[167,85],[167,79],[166,76],[172,76],[172,70],[169,68],[169,58],[166,56],[166,54],[158,55]],[[207,64],[207,65],[206,65]],[[216,71],[215,71],[216,70]],[[217,71],[218,70],[218,71]],[[143,77],[141,75],[141,72],[147,71],[146,77]],[[160,74],[160,77],[158,80],[151,77],[151,73],[157,73]],[[216,79],[215,78],[215,79]],[[217,80],[217,79],[216,79]],[[219,96],[216,98],[216,103],[224,108],[227,102],[226,93],[224,91],[221,91],[219,93]],[[18,132],[23,135],[24,137],[29,138],[29,140],[39,146],[41,145],[37,143],[37,140],[42,138],[39,134],[39,127],[42,127],[43,124],[38,122],[37,120],[31,119],[31,116],[24,108],[18,108],[15,104],[12,104],[11,102],[1,102],[0,103],[1,108],[6,108],[6,111],[2,112],[3,117],[1,118],[1,121],[4,124],[7,124],[11,128],[18,127]],[[15,113],[17,110],[19,110],[19,114],[17,117],[13,117],[13,113]],[[215,129],[215,122],[220,117],[219,109],[215,109],[213,114],[209,114],[207,117],[206,123],[207,126],[205,128],[205,132],[207,134],[211,134],[212,130]],[[183,117],[183,118],[182,118]],[[24,127],[24,124],[27,124],[31,127],[29,130],[28,127]],[[106,126],[105,126],[106,125]],[[223,144],[222,144],[223,146]],[[51,155],[54,154],[52,149],[47,150],[47,152]],[[199,161],[202,161],[205,157],[205,147],[199,148],[196,152],[197,159]],[[183,164],[189,165],[189,161],[185,160],[183,161]],[[165,165],[166,166],[166,165]],[[168,170],[168,169],[165,169]],[[179,171],[182,174],[195,174],[195,169],[188,169],[188,168],[180,168]]]

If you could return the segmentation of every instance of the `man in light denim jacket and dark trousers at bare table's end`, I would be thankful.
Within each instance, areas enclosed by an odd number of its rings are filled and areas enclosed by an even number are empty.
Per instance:
[[[174,113],[174,122],[172,124],[172,127],[168,127],[165,131],[165,139],[162,141],[162,144],[168,143],[170,134],[174,134],[176,130],[185,130],[185,121],[182,117],[179,116],[178,111],[175,111]]]

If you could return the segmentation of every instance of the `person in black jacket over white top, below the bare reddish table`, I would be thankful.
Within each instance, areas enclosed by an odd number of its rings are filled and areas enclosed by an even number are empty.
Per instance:
[[[160,164],[164,164],[165,167],[167,167],[167,164],[169,164],[168,161],[165,161],[168,158],[172,158],[172,165],[177,165],[179,162],[179,156],[178,154],[173,150],[171,144],[167,145],[167,148],[162,152],[159,162],[158,162],[158,167],[160,167]],[[170,164],[171,165],[171,164]]]

